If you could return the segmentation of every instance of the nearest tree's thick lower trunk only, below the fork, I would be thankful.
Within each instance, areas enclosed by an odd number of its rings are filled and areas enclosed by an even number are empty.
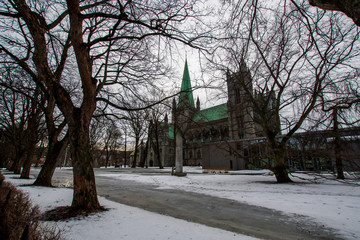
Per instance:
[[[75,126],[69,125],[74,175],[74,195],[71,207],[75,210],[85,210],[87,212],[98,211],[101,207],[96,192],[89,124],[81,121],[81,118],[74,119],[74,121],[76,122]]]

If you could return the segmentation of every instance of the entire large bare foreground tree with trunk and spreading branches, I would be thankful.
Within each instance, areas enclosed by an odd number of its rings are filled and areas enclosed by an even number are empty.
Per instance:
[[[122,100],[118,89],[109,85],[118,84],[132,93],[135,83],[154,79],[159,59],[151,52],[159,38],[165,39],[164,44],[166,39],[196,44],[197,32],[178,29],[180,22],[191,16],[192,6],[188,1],[2,2],[2,25],[12,28],[3,32],[1,50],[29,74],[36,72],[34,79],[44,92],[53,94],[68,124],[74,170],[73,208],[100,208],[89,146],[89,126],[97,102],[129,110],[118,101]],[[10,31],[12,36],[20,36],[17,42],[5,36]],[[51,41],[59,42],[60,49],[49,48]],[[79,80],[80,99],[72,97],[61,82],[70,42],[79,73],[73,78]]]

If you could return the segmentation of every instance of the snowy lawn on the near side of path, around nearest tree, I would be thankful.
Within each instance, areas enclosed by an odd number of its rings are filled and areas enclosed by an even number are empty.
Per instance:
[[[5,177],[6,181],[27,192],[33,203],[40,206],[41,211],[71,204],[71,189],[19,186],[31,184],[34,179],[23,180],[19,179],[19,175],[9,174]],[[245,235],[129,207],[103,197],[99,197],[99,201],[109,211],[63,222],[50,222],[50,224],[56,224],[62,230],[64,238],[73,240],[255,240]]]

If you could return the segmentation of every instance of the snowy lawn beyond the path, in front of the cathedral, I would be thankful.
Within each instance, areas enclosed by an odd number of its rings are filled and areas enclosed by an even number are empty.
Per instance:
[[[166,171],[166,170],[165,170]],[[180,189],[208,194],[252,205],[301,214],[336,229],[346,239],[360,239],[360,182],[328,180],[296,174],[295,183],[276,184],[268,172],[239,171],[229,174],[195,174],[200,168],[188,168],[186,177],[146,174],[98,174],[116,179],[153,184],[160,189]],[[194,174],[192,174],[194,173]],[[300,178],[299,178],[300,177]]]

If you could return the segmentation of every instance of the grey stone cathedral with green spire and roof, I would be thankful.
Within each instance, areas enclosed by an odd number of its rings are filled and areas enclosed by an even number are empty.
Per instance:
[[[174,166],[175,137],[183,139],[183,164],[207,169],[245,169],[243,157],[233,154],[241,139],[261,136],[254,122],[252,104],[246,89],[252,89],[252,79],[245,63],[235,74],[226,74],[227,103],[206,109],[194,101],[187,61],[179,97],[173,100],[172,117],[151,123],[147,147],[147,166]],[[244,85],[245,84],[245,85]]]

